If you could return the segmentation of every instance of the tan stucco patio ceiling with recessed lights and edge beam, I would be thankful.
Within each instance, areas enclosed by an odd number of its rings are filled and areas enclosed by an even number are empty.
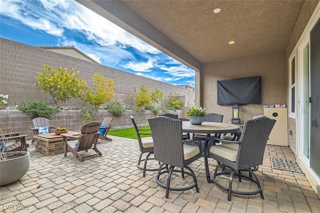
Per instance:
[[[203,63],[284,51],[304,0],[78,2],[199,68]],[[214,13],[215,8],[221,11]],[[235,43],[228,44],[230,40]]]

